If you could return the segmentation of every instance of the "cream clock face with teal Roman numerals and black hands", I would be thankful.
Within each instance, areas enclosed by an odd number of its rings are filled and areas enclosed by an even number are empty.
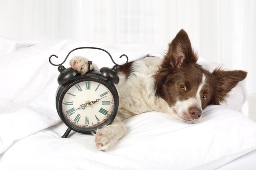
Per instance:
[[[114,97],[102,83],[82,81],[70,87],[62,100],[62,113],[72,125],[81,128],[104,123],[114,109]]]

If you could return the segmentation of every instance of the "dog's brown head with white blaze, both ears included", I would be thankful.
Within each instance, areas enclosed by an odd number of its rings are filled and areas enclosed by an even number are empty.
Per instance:
[[[154,75],[156,96],[168,103],[174,117],[186,123],[197,123],[207,105],[225,101],[228,92],[247,75],[221,68],[210,73],[196,63],[197,59],[188,34],[180,30]]]

